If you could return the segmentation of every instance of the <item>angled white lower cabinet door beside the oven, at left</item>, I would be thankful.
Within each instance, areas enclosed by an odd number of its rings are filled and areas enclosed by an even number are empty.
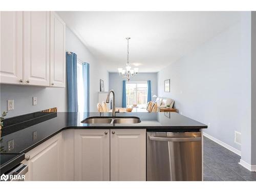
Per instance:
[[[62,134],[50,138],[25,154],[30,156],[25,164],[29,165],[26,181],[60,181],[62,180]],[[27,177],[28,176],[28,177]]]

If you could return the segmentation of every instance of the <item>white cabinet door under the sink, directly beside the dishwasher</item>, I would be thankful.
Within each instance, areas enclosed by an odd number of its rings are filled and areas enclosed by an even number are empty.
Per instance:
[[[146,130],[111,130],[111,180],[146,180]]]

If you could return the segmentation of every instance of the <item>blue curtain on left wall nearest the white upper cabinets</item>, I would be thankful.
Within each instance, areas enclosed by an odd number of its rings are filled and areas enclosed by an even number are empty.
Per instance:
[[[76,54],[66,52],[68,80],[68,112],[77,112],[77,58]]]

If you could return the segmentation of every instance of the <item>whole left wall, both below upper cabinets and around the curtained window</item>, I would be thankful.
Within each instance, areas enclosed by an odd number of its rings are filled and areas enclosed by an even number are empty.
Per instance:
[[[69,28],[66,28],[66,50],[75,52],[79,59],[90,63],[90,111],[97,111],[99,79],[105,81],[105,90],[108,91],[108,71],[100,66]],[[67,87],[43,88],[1,84],[0,90],[1,112],[7,111],[7,100],[14,99],[14,110],[8,112],[7,118],[53,107],[57,107],[60,112],[68,110]],[[37,97],[37,105],[32,105],[32,97]]]

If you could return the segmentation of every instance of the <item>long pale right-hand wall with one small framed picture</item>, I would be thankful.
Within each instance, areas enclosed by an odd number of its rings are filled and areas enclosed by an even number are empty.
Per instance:
[[[237,150],[234,131],[250,126],[250,62],[242,54],[249,30],[238,23],[158,73],[160,96],[173,98],[182,115],[210,123],[205,132]]]

